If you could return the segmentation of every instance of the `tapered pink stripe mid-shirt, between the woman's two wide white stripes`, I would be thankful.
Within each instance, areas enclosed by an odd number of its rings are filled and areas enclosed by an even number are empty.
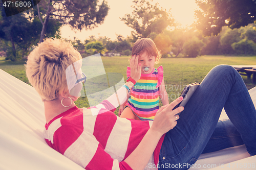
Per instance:
[[[102,144],[103,149],[106,147],[106,142],[116,123],[116,119],[117,117],[113,112],[105,112],[104,114],[97,115],[93,135]],[[108,123],[106,124],[106,122]]]

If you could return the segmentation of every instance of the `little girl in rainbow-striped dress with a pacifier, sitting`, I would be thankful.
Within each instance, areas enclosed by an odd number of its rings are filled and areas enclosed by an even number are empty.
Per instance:
[[[163,80],[163,67],[154,68],[160,55],[152,39],[141,38],[133,45],[133,57],[141,63],[140,80],[130,90],[127,101],[120,105],[119,116],[138,120],[153,120],[159,109],[159,97],[163,105],[169,104]],[[127,78],[130,77],[127,67]]]

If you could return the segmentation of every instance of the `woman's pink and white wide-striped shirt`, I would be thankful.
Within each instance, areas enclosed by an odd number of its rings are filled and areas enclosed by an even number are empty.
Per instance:
[[[46,124],[46,142],[88,170],[132,169],[123,160],[135,150],[153,121],[120,118],[114,110],[107,100],[89,109],[75,106]],[[148,163],[158,163],[163,139],[164,135]]]

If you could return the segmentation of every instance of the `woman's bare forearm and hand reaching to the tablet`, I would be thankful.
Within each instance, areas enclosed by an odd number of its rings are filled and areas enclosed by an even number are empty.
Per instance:
[[[182,100],[183,98],[180,97],[158,110],[152,127],[147,131],[138,147],[124,160],[132,169],[144,169],[161,136],[177,125],[174,115],[181,112],[184,108],[178,107],[173,111],[172,109]],[[176,116],[179,118],[178,115]]]

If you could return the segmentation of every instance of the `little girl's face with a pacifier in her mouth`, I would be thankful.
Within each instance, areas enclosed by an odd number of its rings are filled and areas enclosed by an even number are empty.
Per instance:
[[[154,68],[156,62],[155,56],[148,56],[146,52],[139,54],[139,63],[141,63],[141,73],[142,74],[150,74]],[[149,70],[144,71],[144,68],[148,67]]]

